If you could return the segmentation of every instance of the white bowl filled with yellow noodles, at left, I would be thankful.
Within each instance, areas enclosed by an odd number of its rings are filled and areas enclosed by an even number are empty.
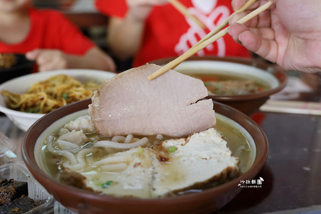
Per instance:
[[[27,131],[45,114],[91,97],[105,79],[115,75],[100,70],[62,69],[17,77],[0,84],[0,112]]]

